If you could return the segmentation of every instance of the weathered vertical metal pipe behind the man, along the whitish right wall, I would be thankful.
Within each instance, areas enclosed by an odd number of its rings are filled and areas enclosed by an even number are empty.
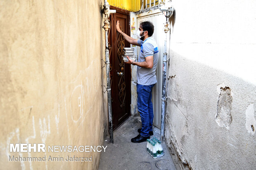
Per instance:
[[[165,104],[166,104],[166,64],[167,64],[167,53],[166,53],[166,42],[167,42],[167,33],[170,28],[168,28],[168,22],[166,18],[166,24],[164,25],[164,32],[166,33],[164,40],[164,56],[163,56],[163,82],[162,82],[162,103],[161,103],[161,132],[160,140],[164,140],[164,119],[165,119]]]

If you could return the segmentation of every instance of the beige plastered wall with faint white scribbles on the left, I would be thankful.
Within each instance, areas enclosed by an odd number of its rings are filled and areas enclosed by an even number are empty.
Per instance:
[[[103,144],[102,4],[0,2],[0,169],[97,168],[97,152],[13,154],[92,156],[84,163],[8,162],[7,156],[9,143]]]

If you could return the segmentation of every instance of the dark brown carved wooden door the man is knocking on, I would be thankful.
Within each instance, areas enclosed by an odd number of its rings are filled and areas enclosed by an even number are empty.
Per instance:
[[[130,116],[130,82],[131,69],[129,64],[123,62],[123,48],[130,47],[130,44],[123,36],[116,32],[116,21],[119,20],[121,30],[130,35],[129,12],[116,7],[115,14],[111,14],[109,21],[111,28],[109,31],[109,60],[112,98],[112,120],[113,129],[116,129]]]

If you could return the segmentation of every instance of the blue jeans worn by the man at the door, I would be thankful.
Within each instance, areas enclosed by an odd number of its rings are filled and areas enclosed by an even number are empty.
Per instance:
[[[152,104],[152,89],[155,84],[146,86],[137,84],[137,107],[141,117],[141,133],[144,137],[149,136],[149,131],[152,131],[152,123],[154,119],[153,104]]]

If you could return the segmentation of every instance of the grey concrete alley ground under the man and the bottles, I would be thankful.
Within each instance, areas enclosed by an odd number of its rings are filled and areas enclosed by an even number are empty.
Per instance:
[[[129,117],[114,131],[114,144],[109,142],[109,136],[104,140],[107,149],[101,153],[99,170],[176,170],[165,143],[162,144],[164,156],[153,159],[147,153],[147,142],[130,142],[139,134],[138,128],[141,128],[140,117]],[[153,133],[150,138],[159,139],[160,130],[153,127]]]

